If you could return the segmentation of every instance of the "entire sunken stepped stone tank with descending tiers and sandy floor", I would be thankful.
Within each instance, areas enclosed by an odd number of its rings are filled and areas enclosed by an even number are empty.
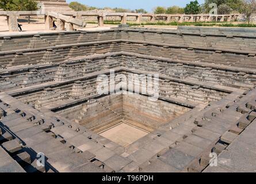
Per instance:
[[[254,172],[255,44],[232,28],[0,37],[0,172]],[[103,74],[158,74],[159,97],[99,94]]]

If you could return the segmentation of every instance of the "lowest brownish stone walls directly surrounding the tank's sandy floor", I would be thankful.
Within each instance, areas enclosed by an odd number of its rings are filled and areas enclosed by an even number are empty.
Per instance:
[[[95,132],[102,132],[120,122],[151,132],[188,110],[165,101],[152,102],[142,95],[120,94],[93,99],[58,113]]]

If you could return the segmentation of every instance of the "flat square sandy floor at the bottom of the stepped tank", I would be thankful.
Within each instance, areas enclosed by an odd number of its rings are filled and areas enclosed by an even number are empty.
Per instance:
[[[108,131],[101,133],[100,135],[126,147],[127,145],[134,143],[136,140],[146,136],[147,134],[147,132],[122,123],[114,128],[109,129]]]

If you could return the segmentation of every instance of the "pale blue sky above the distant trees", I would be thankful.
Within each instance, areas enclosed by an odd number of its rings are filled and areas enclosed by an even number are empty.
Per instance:
[[[125,9],[140,9],[143,8],[148,12],[156,6],[173,6],[178,5],[185,7],[187,3],[193,0],[67,0],[67,2],[77,1],[89,6],[96,7],[123,7]],[[197,0],[200,4],[204,0]]]

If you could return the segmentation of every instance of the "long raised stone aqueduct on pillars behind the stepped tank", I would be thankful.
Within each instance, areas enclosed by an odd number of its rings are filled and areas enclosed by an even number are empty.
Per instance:
[[[38,11],[0,11],[0,16],[5,16],[10,31],[18,31],[18,16],[44,16],[45,29],[52,28],[52,21],[55,18],[58,23],[58,29],[74,30],[74,25],[85,27],[86,21],[97,21],[98,26],[104,26],[104,20],[119,20],[121,24],[127,24],[127,21],[135,21],[141,24],[143,21],[154,23],[156,20],[169,22],[197,22],[197,21],[237,21],[240,14],[212,15],[212,14],[142,14],[142,13],[113,13],[109,11],[56,11],[40,9]]]

